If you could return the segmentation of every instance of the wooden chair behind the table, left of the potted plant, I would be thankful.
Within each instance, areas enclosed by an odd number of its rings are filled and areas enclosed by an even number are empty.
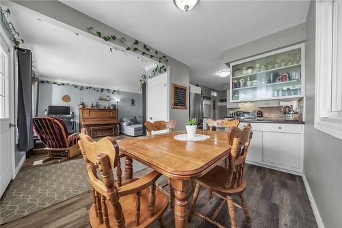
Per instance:
[[[147,130],[147,134],[148,136],[150,136],[152,134],[153,131],[161,131],[161,130],[166,130],[169,129],[170,131],[173,131],[174,127],[176,127],[176,121],[155,121],[153,123],[151,123],[150,121],[146,121],[145,122],[145,127]],[[166,192],[164,190],[164,188],[166,188],[167,186],[169,186],[168,188],[168,192]],[[171,185],[171,180],[170,178],[168,179],[168,183],[164,184],[163,186],[160,186],[161,190],[163,190],[166,194],[168,194],[169,196],[169,203],[170,203],[170,207],[174,206],[174,192],[172,190],[172,185]]]

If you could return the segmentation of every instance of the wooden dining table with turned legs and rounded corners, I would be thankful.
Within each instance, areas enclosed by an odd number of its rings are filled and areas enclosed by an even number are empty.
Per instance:
[[[191,179],[205,175],[230,155],[226,131],[197,130],[210,136],[202,141],[174,139],[185,131],[124,138],[118,140],[120,153],[126,155],[124,179],[133,177],[133,159],[169,177],[174,187],[174,224],[187,227],[187,188]]]

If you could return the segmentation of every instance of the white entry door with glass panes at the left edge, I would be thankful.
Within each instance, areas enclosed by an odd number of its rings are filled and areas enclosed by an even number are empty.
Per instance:
[[[11,127],[10,104],[13,77],[10,77],[11,53],[4,38],[0,40],[0,197],[12,179],[12,156],[14,156],[14,134]]]

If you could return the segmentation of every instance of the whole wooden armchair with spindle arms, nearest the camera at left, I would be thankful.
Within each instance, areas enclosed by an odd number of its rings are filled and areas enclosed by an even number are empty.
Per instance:
[[[163,213],[168,207],[168,199],[155,188],[155,181],[161,174],[152,171],[140,179],[123,181],[118,186],[113,174],[119,160],[116,140],[106,137],[95,142],[83,133],[79,137],[94,201],[89,212],[90,225],[93,228],[148,227],[159,220],[160,227],[165,227]]]

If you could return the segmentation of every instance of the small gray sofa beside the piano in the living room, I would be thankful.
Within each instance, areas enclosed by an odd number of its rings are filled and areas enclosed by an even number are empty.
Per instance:
[[[127,116],[120,121],[120,133],[129,136],[142,136],[142,116]]]

